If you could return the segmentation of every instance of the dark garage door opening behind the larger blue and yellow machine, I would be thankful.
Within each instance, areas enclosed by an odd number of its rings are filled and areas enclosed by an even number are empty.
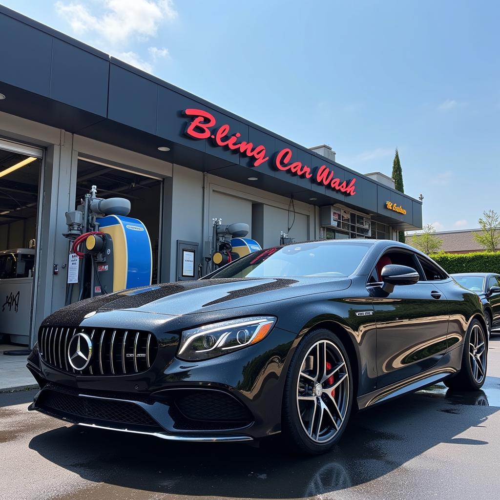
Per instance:
[[[128,217],[139,219],[149,234],[152,251],[151,283],[158,283],[162,181],[130,170],[78,158],[75,207],[81,203],[81,199],[92,185],[97,187],[97,197],[121,197],[130,201]],[[90,267],[87,271],[91,272]],[[82,298],[88,296],[90,290],[86,290]]]

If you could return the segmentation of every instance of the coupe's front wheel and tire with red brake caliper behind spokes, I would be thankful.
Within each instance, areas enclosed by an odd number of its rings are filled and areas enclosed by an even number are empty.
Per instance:
[[[340,439],[353,397],[352,372],[341,340],[330,330],[312,330],[299,343],[288,368],[282,428],[301,453],[328,451]]]

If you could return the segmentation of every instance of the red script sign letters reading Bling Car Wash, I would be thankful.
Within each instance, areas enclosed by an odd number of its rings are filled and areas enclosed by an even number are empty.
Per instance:
[[[269,159],[265,146],[253,144],[245,140],[239,140],[241,134],[239,132],[230,133],[229,125],[220,125],[217,129],[212,130],[215,126],[215,117],[208,111],[202,109],[186,109],[184,113],[187,116],[195,116],[195,118],[187,123],[185,128],[186,135],[194,139],[212,139],[218,146],[227,147],[232,151],[237,151],[244,154],[248,158],[253,159],[253,165],[259,166]],[[334,177],[333,169],[326,165],[310,168],[300,161],[292,160],[291,149],[285,147],[274,155],[274,166],[278,170],[289,171],[294,175],[301,175],[307,179],[312,178],[318,184],[323,184],[347,195],[356,194],[355,192],[355,177],[350,180],[340,180]]]

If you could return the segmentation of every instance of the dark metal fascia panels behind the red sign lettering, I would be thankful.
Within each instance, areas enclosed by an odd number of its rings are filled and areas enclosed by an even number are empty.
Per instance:
[[[307,203],[342,203],[394,229],[422,225],[420,201],[2,6],[0,45],[0,92],[7,96],[0,111]],[[254,167],[241,153],[186,136],[186,108],[209,111],[240,140],[264,145],[269,160]],[[325,164],[340,180],[355,177],[355,195],[278,170],[273,153],[283,148],[311,168]],[[389,210],[388,201],[406,213]]]

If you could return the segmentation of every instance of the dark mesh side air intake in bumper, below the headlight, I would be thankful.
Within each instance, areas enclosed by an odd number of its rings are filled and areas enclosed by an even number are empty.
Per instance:
[[[249,422],[248,410],[233,396],[210,389],[188,390],[175,398],[183,416],[191,420]]]

